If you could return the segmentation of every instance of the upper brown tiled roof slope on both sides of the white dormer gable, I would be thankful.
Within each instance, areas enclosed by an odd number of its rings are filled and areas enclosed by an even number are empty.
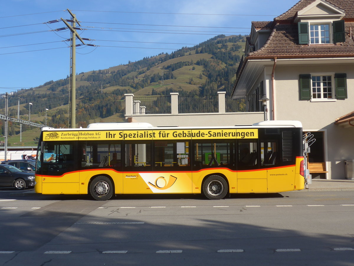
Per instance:
[[[291,9],[282,13],[279,17],[274,18],[274,20],[292,20],[296,13],[302,10],[304,7],[308,6],[316,0],[300,0]],[[345,18],[354,18],[354,3],[353,0],[326,0],[327,2],[335,5],[346,11]]]

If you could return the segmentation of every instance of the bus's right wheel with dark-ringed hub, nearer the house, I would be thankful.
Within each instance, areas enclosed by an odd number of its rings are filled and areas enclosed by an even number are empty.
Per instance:
[[[228,185],[221,176],[207,177],[202,185],[203,193],[208,199],[223,199],[228,192]]]

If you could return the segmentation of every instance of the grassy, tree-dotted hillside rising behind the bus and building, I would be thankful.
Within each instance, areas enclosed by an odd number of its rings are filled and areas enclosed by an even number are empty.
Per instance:
[[[92,70],[76,75],[76,123],[86,127],[93,122],[123,122],[125,93],[135,96],[169,94],[216,95],[220,89],[227,94],[232,89],[236,69],[245,49],[245,37],[219,35],[193,47],[184,47],[171,54],[159,54],[127,65],[113,66],[105,70]],[[8,114],[19,114],[28,120],[29,102],[32,102],[32,122],[51,127],[68,127],[69,78],[48,81],[32,89],[23,89],[9,97]],[[5,113],[5,100],[0,100],[0,112]],[[4,134],[4,121],[0,121]],[[19,125],[10,123],[8,144],[12,146],[36,145],[39,129],[22,128],[19,141]],[[0,137],[1,140],[1,137]]]

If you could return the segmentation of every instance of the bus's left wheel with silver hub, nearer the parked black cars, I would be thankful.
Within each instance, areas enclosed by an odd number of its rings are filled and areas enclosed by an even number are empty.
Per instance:
[[[113,185],[108,177],[98,176],[90,183],[90,194],[95,200],[108,200],[113,195]]]

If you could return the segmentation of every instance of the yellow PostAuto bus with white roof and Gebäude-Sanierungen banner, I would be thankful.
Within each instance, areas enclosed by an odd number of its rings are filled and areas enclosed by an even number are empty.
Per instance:
[[[90,194],[277,193],[304,188],[302,125],[234,127],[96,123],[43,128],[35,192]]]

